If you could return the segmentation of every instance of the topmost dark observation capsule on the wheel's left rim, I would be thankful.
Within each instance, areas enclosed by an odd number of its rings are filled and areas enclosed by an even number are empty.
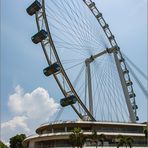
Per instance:
[[[37,0],[35,0],[27,9],[26,9],[26,11],[27,11],[27,13],[29,14],[29,15],[33,15],[33,14],[35,14],[37,11],[39,11],[40,9],[41,9],[41,4],[40,4],[40,2],[38,2]]]

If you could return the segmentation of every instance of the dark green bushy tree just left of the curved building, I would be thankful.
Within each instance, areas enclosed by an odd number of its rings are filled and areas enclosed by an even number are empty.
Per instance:
[[[25,148],[22,144],[25,138],[25,134],[16,135],[10,138],[10,148]]]

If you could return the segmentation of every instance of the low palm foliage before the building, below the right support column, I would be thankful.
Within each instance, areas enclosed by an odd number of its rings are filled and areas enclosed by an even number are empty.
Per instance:
[[[132,147],[132,143],[134,142],[133,138],[132,137],[126,137],[126,136],[122,136],[122,135],[119,135],[117,137],[118,139],[118,145],[117,145],[117,148],[119,148],[120,146],[129,146],[130,148]]]

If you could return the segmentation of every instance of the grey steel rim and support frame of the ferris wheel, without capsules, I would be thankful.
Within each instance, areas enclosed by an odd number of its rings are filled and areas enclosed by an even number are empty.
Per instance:
[[[103,54],[113,54],[114,59],[115,59],[115,63],[116,63],[116,67],[117,67],[117,71],[119,73],[121,85],[123,88],[124,96],[126,99],[126,103],[127,103],[127,107],[128,107],[128,111],[129,111],[129,115],[130,115],[130,120],[131,120],[131,122],[136,122],[137,112],[136,112],[136,107],[135,107],[136,106],[135,94],[133,91],[132,84],[128,83],[128,82],[131,82],[131,79],[130,79],[130,76],[129,76],[129,73],[127,70],[127,66],[124,62],[124,58],[121,54],[120,48],[115,40],[114,35],[112,34],[112,32],[109,29],[109,25],[106,23],[102,14],[99,12],[99,10],[96,8],[95,3],[92,2],[91,0],[83,0],[83,1],[88,6],[88,8],[91,10],[93,15],[96,17],[98,23],[100,24],[100,26],[104,30],[104,33],[106,34],[106,37],[108,38],[110,45],[111,45],[110,49],[105,49],[101,53],[98,53],[96,55],[92,55],[90,58],[86,59],[86,61],[85,61],[87,71],[88,71],[89,109],[87,109],[85,104],[81,101],[81,98],[78,96],[77,92],[75,91],[71,81],[69,80],[69,78],[62,66],[62,63],[61,63],[60,58],[58,56],[56,47],[54,45],[50,30],[49,30],[48,20],[47,20],[46,11],[45,11],[45,0],[41,0],[42,8],[41,8],[41,10],[36,12],[35,15],[36,15],[36,23],[37,23],[38,31],[40,31],[42,29],[42,27],[44,26],[44,29],[48,33],[48,37],[41,42],[41,46],[43,48],[43,52],[45,54],[47,63],[50,65],[54,62],[57,62],[60,65],[61,70],[59,72],[53,74],[53,76],[54,76],[57,84],[59,85],[63,95],[65,97],[68,97],[70,95],[74,95],[77,98],[77,102],[79,104],[79,107],[81,108],[81,110],[83,110],[83,112],[85,112],[85,115],[87,115],[89,117],[89,120],[95,121],[96,119],[93,116],[93,97],[92,97],[90,64],[96,58],[98,58],[99,56],[101,56]],[[48,55],[47,50],[51,50],[53,52],[54,58],[52,58],[52,59],[50,58],[50,55]],[[125,77],[125,75],[126,75],[126,77]],[[131,91],[129,92],[129,90],[131,90]],[[71,107],[74,109],[74,111],[77,113],[77,115],[83,120],[84,119],[83,115],[78,111],[78,109],[74,105],[71,105]]]

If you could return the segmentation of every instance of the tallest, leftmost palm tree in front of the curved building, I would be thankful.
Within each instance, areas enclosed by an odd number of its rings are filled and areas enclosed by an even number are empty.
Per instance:
[[[85,143],[85,136],[79,127],[72,130],[72,134],[69,136],[69,138],[73,147],[77,146],[78,148],[82,148]]]

